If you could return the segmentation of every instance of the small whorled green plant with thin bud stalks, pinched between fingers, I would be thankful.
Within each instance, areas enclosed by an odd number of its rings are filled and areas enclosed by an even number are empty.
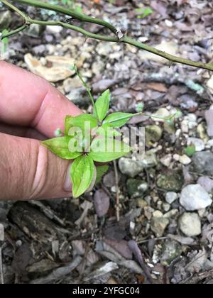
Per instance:
[[[72,194],[73,197],[80,197],[90,187],[96,173],[99,181],[104,172],[108,170],[107,166],[96,167],[94,162],[111,162],[130,152],[129,145],[116,138],[121,136],[116,128],[124,126],[133,116],[143,114],[143,105],[139,105],[139,111],[136,114],[121,112],[109,114],[111,98],[109,89],[99,96],[97,101],[94,101],[92,92],[76,65],[72,69],[87,89],[94,108],[93,114],[66,116],[64,135],[45,140],[43,145],[60,158],[74,160],[70,170]],[[164,119],[171,121],[174,116]],[[61,131],[58,129],[56,134],[59,133]]]

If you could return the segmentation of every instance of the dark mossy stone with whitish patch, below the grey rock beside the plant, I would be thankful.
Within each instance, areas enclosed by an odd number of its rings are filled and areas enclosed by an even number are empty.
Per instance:
[[[143,180],[129,179],[127,180],[127,191],[131,197],[141,197],[146,194],[148,190],[148,184]]]

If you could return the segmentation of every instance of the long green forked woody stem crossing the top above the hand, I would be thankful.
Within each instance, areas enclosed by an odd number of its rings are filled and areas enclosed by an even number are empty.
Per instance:
[[[213,71],[213,62],[209,62],[209,63],[203,63],[203,62],[195,62],[192,60],[188,60],[188,59],[184,59],[182,57],[176,57],[174,55],[170,55],[168,53],[165,53],[162,50],[158,50],[156,48],[151,47],[150,45],[146,45],[144,43],[139,43],[137,40],[134,40],[133,38],[129,38],[128,36],[124,36],[123,38],[118,38],[116,33],[118,32],[117,29],[112,26],[110,23],[100,20],[99,18],[92,18],[90,16],[85,16],[83,13],[77,13],[76,11],[72,11],[70,9],[65,9],[62,6],[56,6],[56,5],[52,5],[52,4],[48,4],[45,2],[40,2],[40,1],[35,1],[35,0],[11,0],[12,2],[17,2],[19,4],[27,4],[29,6],[35,6],[35,7],[39,7],[41,9],[48,9],[50,11],[57,11],[59,13],[63,13],[65,15],[68,16],[72,16],[72,18],[75,18],[79,21],[85,21],[85,22],[89,22],[89,23],[96,23],[97,25],[101,25],[104,28],[108,28],[111,32],[114,33],[114,36],[105,36],[105,35],[99,35],[99,34],[94,34],[91,33],[89,31],[86,31],[80,27],[77,26],[73,26],[67,23],[63,23],[60,21],[38,21],[38,20],[33,20],[31,18],[28,18],[28,16],[26,16],[23,12],[20,13],[19,9],[16,8],[16,6],[13,6],[13,4],[10,4],[9,1],[6,0],[0,0],[2,3],[4,3],[6,6],[9,6],[11,9],[13,9],[14,11],[16,11],[17,13],[19,13],[26,24],[38,24],[40,26],[62,26],[63,28],[69,28],[73,31],[77,31],[79,33],[82,33],[83,35],[87,36],[88,38],[94,38],[96,40],[104,40],[104,41],[108,41],[108,42],[120,42],[120,43],[127,43],[129,45],[133,45],[136,48],[139,48],[141,50],[146,50],[150,53],[153,53],[155,55],[158,55],[160,57],[165,58],[166,60],[168,60],[170,63],[171,62],[176,62],[176,63],[181,63],[184,65],[190,65],[192,67],[199,67],[202,68],[204,70],[210,70]],[[21,28],[18,28],[18,32],[21,32],[25,29],[26,27],[23,26]],[[15,32],[17,33],[17,32]],[[13,35],[14,31],[11,31],[10,33],[7,33],[6,35],[1,35],[1,39],[5,38],[5,37],[9,37],[10,35]]]

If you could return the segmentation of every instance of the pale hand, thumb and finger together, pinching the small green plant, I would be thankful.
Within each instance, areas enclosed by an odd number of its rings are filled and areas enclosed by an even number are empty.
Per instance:
[[[51,84],[0,61],[0,200],[69,197],[70,161],[40,144],[82,111]],[[13,136],[12,136],[13,135]]]

